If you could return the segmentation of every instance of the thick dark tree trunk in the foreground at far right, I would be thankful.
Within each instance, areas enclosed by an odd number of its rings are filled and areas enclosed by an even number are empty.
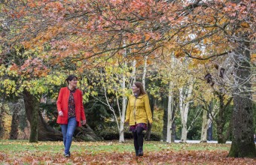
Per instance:
[[[246,38],[245,38],[246,40]],[[256,157],[254,122],[251,101],[251,55],[243,41],[234,53],[235,89],[233,90],[233,139],[229,157]],[[237,54],[235,54],[237,53]]]

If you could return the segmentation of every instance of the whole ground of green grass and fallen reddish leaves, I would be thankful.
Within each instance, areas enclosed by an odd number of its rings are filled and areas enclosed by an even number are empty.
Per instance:
[[[256,159],[227,157],[230,144],[145,142],[135,157],[133,142],[73,142],[63,157],[62,142],[0,141],[0,164],[256,164]]]

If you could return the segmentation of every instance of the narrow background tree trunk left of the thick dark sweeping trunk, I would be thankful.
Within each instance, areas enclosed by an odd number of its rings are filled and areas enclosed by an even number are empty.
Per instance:
[[[20,101],[16,102],[13,104],[13,115],[12,115],[12,120],[11,120],[11,132],[10,132],[10,137],[9,139],[17,139],[19,135],[19,123],[20,123]]]

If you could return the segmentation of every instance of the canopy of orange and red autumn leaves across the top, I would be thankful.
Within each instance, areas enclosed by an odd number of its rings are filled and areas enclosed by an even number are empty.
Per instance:
[[[84,71],[94,58],[123,56],[124,49],[129,49],[126,58],[171,52],[177,57],[218,57],[236,48],[242,34],[253,40],[254,6],[249,0],[10,1],[2,5],[8,20],[1,37],[8,45],[2,54],[23,46],[33,55],[20,68],[33,63],[38,76],[52,66],[78,62],[86,65],[77,66]]]

